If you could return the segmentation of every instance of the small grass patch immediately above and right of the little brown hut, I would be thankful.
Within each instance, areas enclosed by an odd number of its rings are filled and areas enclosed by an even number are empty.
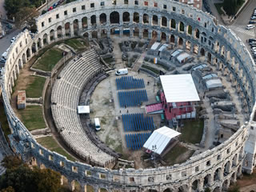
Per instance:
[[[38,76],[29,76],[31,79],[30,84],[26,86],[26,97],[39,98],[42,97],[43,86],[45,85],[46,78]]]

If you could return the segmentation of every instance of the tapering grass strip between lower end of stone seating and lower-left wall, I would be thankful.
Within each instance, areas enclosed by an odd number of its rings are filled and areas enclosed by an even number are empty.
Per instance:
[[[42,146],[46,147],[48,150],[52,150],[57,152],[58,154],[62,154],[70,161],[75,161],[75,159],[71,157],[70,154],[67,154],[66,151],[63,150],[62,147],[58,145],[58,142],[56,142],[53,137],[48,136],[45,138],[38,138],[37,142]]]

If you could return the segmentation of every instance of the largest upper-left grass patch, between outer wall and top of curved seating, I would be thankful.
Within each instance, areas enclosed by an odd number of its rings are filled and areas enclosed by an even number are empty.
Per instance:
[[[62,58],[62,50],[51,48],[42,54],[41,58],[34,63],[33,67],[38,70],[51,71]]]

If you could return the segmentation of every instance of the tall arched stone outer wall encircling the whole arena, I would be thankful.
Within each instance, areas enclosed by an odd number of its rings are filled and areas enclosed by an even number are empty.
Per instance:
[[[105,3],[104,6],[101,6],[102,2]],[[1,86],[6,115],[12,129],[12,134],[9,136],[10,145],[14,152],[24,161],[30,161],[42,168],[46,166],[57,170],[69,180],[71,189],[74,189],[74,181],[79,182],[82,191],[86,191],[86,185],[94,186],[95,191],[100,188],[108,191],[164,191],[166,189],[202,191],[206,187],[220,191],[226,190],[230,182],[236,181],[242,174],[242,168],[251,173],[255,162],[255,151],[245,148],[251,149],[248,147],[249,144],[255,146],[255,137],[252,137],[256,130],[255,66],[241,40],[231,30],[218,26],[215,18],[209,14],[179,2],[160,0],[158,7],[154,7],[154,1],[151,0],[147,1],[148,6],[144,6],[142,1],[138,1],[138,5],[134,5],[134,1],[124,4],[123,1],[117,0],[116,5],[112,5],[112,1],[109,0],[102,2],[80,0],[51,10],[38,18],[37,34],[30,34],[25,30],[18,34],[16,41],[10,46]],[[94,7],[90,8],[92,5]],[[82,6],[85,6],[86,10],[82,10]],[[120,17],[117,24],[110,23],[110,14],[113,11],[117,11]],[[130,22],[122,21],[124,12],[130,13]],[[102,13],[106,14],[106,22],[101,23],[100,14]],[[139,15],[138,23],[133,22],[134,13]],[[57,14],[58,18],[56,18]],[[149,24],[143,22],[143,14],[148,15]],[[94,15],[96,23],[90,25],[90,18],[94,18]],[[157,25],[152,22],[156,16]],[[87,26],[82,22],[82,18],[85,17]],[[175,25],[171,24],[171,19],[175,20]],[[162,25],[162,21],[165,20],[166,25]],[[181,30],[181,22],[184,31]],[[171,26],[175,26],[175,29]],[[86,38],[100,38],[102,34],[110,37],[113,28],[120,30],[121,37],[123,29],[127,28],[130,29],[130,37],[133,37],[134,31],[138,30],[138,38],[146,38],[144,34],[147,31],[148,38],[157,38],[160,41],[166,37],[167,42],[198,55],[206,55],[206,62],[217,66],[218,70],[221,70],[236,87],[244,113],[251,113],[250,122],[242,125],[220,146],[198,154],[180,165],[156,169],[109,170],[93,167],[82,162],[70,162],[62,155],[40,146],[10,106],[10,94],[19,69],[38,50],[52,42],[74,37],[75,34]],[[245,158],[246,161],[244,161]]]

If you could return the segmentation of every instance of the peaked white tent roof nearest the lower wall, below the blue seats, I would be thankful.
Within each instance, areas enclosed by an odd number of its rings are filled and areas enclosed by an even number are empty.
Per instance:
[[[180,135],[176,130],[172,130],[167,126],[163,126],[158,130],[154,130],[143,145],[148,150],[154,151],[156,154],[162,154],[162,151],[166,148],[172,138]],[[154,149],[153,149],[154,147]]]

